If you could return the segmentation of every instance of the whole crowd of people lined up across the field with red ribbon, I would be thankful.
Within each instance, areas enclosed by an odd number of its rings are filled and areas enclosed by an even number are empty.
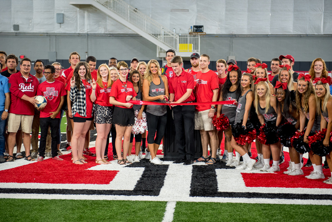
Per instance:
[[[143,158],[161,164],[157,151],[167,114],[172,112],[179,152],[174,163],[213,165],[220,160],[236,169],[276,172],[280,171],[285,146],[291,161],[283,173],[302,175],[304,152],[310,157],[306,166],[313,167],[307,178],[325,178],[323,167],[332,172],[332,82],[321,58],[312,62],[306,75],[293,71],[295,60],[291,55],[273,58],[270,74],[268,65],[253,57],[247,60],[245,72],[235,60],[219,59],[216,73],[209,70],[209,56],[198,53],[191,55],[192,67],[184,70],[182,58],[173,50],[166,52],[167,64],[161,68],[154,59],[147,64],[133,58],[128,65],[113,57],[96,70],[95,57],[89,56],[85,62],[80,59],[77,52],[70,53],[70,67],[62,73],[60,63],[44,65],[36,60],[33,76],[29,58],[20,60],[17,71],[18,58],[0,51],[0,162],[24,158],[23,141],[27,161],[43,161],[45,157],[62,161],[61,151],[71,150],[74,164],[87,163],[83,154],[95,156],[97,164],[109,164],[111,135],[112,159],[118,164]],[[46,98],[45,107],[38,108],[36,95]],[[60,150],[63,114],[67,144]],[[148,133],[136,132],[139,126],[135,128],[135,124],[142,122],[146,122]],[[96,153],[88,148],[94,127]],[[200,131],[202,143],[202,157],[197,160],[194,130]],[[131,154],[133,138],[135,154]],[[256,159],[251,158],[254,139]],[[324,183],[332,184],[331,178]]]

